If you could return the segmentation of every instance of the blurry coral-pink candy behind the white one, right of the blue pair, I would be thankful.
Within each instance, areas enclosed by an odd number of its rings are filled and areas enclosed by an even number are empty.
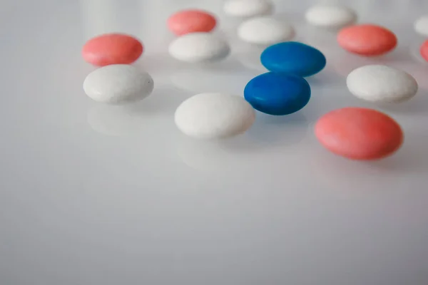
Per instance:
[[[387,28],[376,25],[354,25],[342,28],[337,34],[342,48],[361,56],[379,56],[397,46],[397,36]]]

